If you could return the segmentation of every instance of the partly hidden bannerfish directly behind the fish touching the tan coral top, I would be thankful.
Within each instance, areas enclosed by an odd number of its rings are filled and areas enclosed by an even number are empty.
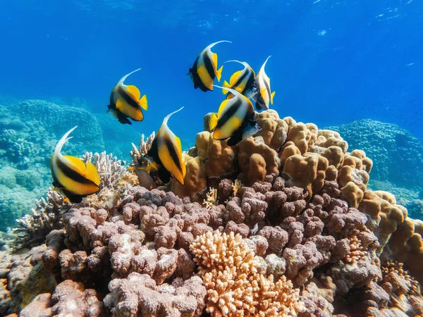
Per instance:
[[[233,73],[229,82],[226,82],[226,80],[223,81],[223,87],[235,89],[247,98],[254,96],[257,91],[255,89],[255,72],[251,66],[248,65],[247,62],[226,61],[225,63],[228,62],[243,64],[244,69]],[[222,89],[222,92],[223,94],[228,94],[226,99],[231,99],[233,97],[233,94],[226,89]]]

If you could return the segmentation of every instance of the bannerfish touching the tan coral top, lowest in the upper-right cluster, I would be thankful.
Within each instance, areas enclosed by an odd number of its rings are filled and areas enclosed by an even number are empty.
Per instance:
[[[223,100],[219,112],[210,116],[209,129],[214,130],[214,139],[228,139],[228,146],[233,147],[241,140],[262,130],[257,125],[254,106],[250,99],[234,89],[215,87],[227,89],[235,97]]]

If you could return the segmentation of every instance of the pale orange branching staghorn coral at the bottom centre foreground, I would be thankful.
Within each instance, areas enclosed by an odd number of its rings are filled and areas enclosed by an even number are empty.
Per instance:
[[[259,260],[240,235],[206,232],[190,245],[212,316],[296,316],[299,292],[281,278],[257,273]]]

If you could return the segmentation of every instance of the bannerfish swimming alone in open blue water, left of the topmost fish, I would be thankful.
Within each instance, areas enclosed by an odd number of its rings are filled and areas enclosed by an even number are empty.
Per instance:
[[[133,85],[125,85],[125,79],[137,72],[141,68],[130,72],[119,80],[116,86],[111,90],[110,104],[107,106],[107,113],[111,113],[120,123],[131,125],[132,123],[128,118],[134,121],[142,121],[144,114],[141,108],[148,109],[147,95],[142,96],[140,99],[140,89]]]

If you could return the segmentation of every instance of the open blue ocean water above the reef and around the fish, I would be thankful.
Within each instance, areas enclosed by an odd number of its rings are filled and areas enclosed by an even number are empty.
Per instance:
[[[185,106],[169,125],[193,139],[222,94],[192,89],[185,74],[205,46],[228,39],[213,49],[219,66],[238,59],[258,71],[271,55],[281,116],[319,126],[373,118],[423,140],[422,1],[16,0],[0,11],[2,95],[78,97],[104,113],[116,82],[142,68],[126,82],[149,99],[133,126],[149,134]],[[237,69],[226,64],[223,79]]]

